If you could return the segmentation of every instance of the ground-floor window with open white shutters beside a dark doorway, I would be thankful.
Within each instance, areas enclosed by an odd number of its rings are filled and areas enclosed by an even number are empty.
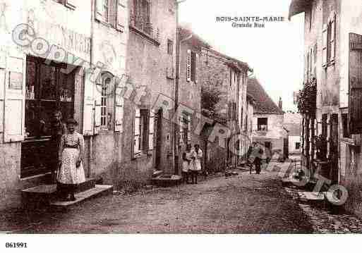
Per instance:
[[[149,109],[135,109],[134,121],[134,157],[147,154],[153,149],[155,131],[155,113]]]

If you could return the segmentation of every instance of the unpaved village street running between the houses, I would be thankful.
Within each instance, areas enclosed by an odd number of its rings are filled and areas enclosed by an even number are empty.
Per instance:
[[[68,212],[1,214],[13,233],[311,233],[308,217],[277,175],[207,178],[91,199]]]

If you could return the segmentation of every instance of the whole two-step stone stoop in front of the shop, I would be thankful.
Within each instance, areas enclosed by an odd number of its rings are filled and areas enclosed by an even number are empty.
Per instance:
[[[75,201],[61,201],[56,192],[56,185],[38,185],[21,191],[21,201],[25,209],[51,207],[67,209],[80,202],[99,195],[108,195],[113,192],[113,185],[96,185],[96,180],[88,178],[76,189]]]

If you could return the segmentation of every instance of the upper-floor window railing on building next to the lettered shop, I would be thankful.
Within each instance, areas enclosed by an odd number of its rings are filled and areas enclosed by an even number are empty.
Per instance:
[[[137,16],[133,11],[130,11],[129,27],[131,31],[159,47],[159,28],[154,27],[149,18]]]

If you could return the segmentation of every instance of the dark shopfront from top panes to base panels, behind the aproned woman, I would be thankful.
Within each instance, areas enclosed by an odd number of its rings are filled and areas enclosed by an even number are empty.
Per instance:
[[[55,111],[63,121],[74,116],[75,74],[64,74],[65,64],[47,65],[45,59],[28,56],[25,83],[25,141],[21,144],[20,177],[51,170],[54,149],[49,149]]]

